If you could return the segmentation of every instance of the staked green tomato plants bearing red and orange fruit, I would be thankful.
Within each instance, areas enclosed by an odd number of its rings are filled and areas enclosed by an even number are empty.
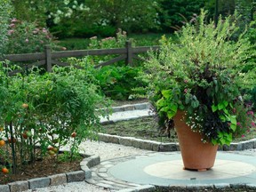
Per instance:
[[[55,67],[40,75],[33,68],[27,75],[8,76],[12,68],[1,63],[0,137],[10,140],[6,152],[12,154],[4,161],[13,164],[13,173],[48,153],[58,160],[58,151],[67,145],[72,159],[82,141],[96,139],[100,116],[107,115],[96,108],[108,108],[108,102],[98,92],[93,67],[83,60],[78,64],[84,69]]]

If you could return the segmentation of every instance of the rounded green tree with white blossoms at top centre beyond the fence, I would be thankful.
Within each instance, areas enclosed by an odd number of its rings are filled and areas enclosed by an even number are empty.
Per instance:
[[[85,17],[98,25],[110,25],[127,31],[147,31],[159,25],[157,1],[90,0],[87,2],[90,12]]]

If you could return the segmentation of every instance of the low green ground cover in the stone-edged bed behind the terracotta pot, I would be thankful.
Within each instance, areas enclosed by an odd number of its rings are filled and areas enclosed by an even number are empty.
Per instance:
[[[142,117],[129,121],[116,122],[103,125],[102,132],[118,136],[134,137],[142,140],[156,140],[161,142],[178,142],[176,132],[171,131],[171,137],[157,128],[158,125],[153,116]],[[248,132],[245,137],[236,138],[233,142],[252,140],[256,138],[256,127]]]

